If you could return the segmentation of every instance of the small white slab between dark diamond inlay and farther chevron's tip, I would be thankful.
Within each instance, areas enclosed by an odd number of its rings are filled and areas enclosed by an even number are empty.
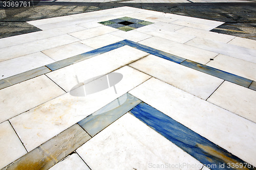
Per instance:
[[[143,27],[141,27],[141,28],[143,28]],[[137,29],[135,29],[135,30],[137,30]],[[140,32],[137,32],[135,30],[131,30],[131,31],[127,31],[127,32],[124,32],[124,31],[120,30],[120,31],[112,32],[110,34],[112,34],[114,36],[117,36],[117,37],[121,37],[123,39],[131,40],[131,41],[134,41],[134,42],[138,42],[138,41],[141,41],[141,40],[152,37],[152,35],[140,33]]]

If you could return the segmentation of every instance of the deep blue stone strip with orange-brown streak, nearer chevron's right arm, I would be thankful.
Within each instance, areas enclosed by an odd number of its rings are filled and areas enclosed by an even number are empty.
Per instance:
[[[250,164],[245,167],[242,159],[143,102],[130,113],[211,169],[256,169]],[[243,167],[228,168],[228,163]]]

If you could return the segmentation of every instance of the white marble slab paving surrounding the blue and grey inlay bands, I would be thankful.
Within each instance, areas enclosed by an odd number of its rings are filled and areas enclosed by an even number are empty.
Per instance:
[[[98,23],[125,16],[154,23],[128,32]],[[0,39],[2,80],[124,39],[256,80],[255,41],[209,31],[223,22],[120,7],[28,23],[42,31]],[[99,76],[110,72],[123,76],[115,87],[71,95],[79,82],[103,82]],[[0,89],[0,168],[126,92],[256,165],[256,91],[124,45]],[[152,169],[166,162],[207,169],[126,113],[51,169]]]

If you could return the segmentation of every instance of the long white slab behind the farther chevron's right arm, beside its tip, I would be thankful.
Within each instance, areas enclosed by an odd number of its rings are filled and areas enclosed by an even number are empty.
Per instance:
[[[146,40],[140,41],[139,43],[202,64],[206,64],[210,61],[210,58],[214,58],[218,55],[218,53],[206,51],[197,47],[159,37],[148,38]]]

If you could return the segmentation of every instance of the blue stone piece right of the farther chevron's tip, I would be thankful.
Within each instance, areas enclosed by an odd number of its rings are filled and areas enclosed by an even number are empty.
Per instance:
[[[146,45],[142,45],[142,44],[139,44],[137,42],[133,42],[133,41],[130,41],[130,40],[127,40],[127,39],[122,40],[120,42],[125,44],[125,45],[129,45],[129,46],[132,46],[134,48],[137,48],[138,50],[144,51],[146,53],[149,53],[149,54],[152,54],[152,55],[155,55],[155,56],[158,56],[158,57],[161,57],[161,58],[164,58],[166,60],[173,61],[173,62],[176,62],[176,63],[181,63],[182,61],[186,60],[184,58],[181,58],[181,57],[178,57],[178,56],[166,53],[166,52],[162,52],[160,50],[156,50],[155,48],[152,48],[152,47],[149,47],[149,46],[146,46]]]

